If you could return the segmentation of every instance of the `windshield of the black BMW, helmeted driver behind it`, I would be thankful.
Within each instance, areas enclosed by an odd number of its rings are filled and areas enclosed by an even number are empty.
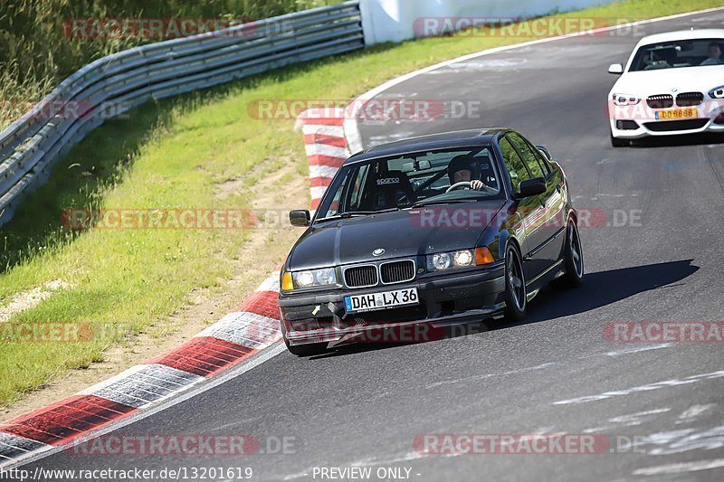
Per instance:
[[[343,166],[317,221],[502,195],[490,146],[419,152]]]

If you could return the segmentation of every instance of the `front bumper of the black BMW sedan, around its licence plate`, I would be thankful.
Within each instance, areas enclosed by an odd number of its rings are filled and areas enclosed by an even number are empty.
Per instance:
[[[481,321],[500,313],[505,299],[505,265],[499,261],[484,269],[427,276],[407,283],[364,289],[334,289],[306,294],[281,294],[279,305],[285,338],[290,345],[341,345],[362,340],[384,341],[380,330],[426,325],[439,328]],[[391,289],[417,288],[420,303],[348,314],[344,298]],[[430,332],[412,329],[404,339],[428,341]]]

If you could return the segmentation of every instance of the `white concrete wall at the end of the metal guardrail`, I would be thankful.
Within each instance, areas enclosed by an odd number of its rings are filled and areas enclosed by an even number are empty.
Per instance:
[[[361,0],[365,43],[402,42],[420,36],[425,17],[478,19],[530,17],[603,5],[613,0]],[[417,21],[417,24],[415,24]],[[416,25],[416,28],[415,28]],[[415,31],[418,35],[415,35]]]

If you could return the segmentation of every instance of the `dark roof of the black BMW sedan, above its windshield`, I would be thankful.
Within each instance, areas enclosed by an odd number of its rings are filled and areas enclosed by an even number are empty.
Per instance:
[[[411,152],[421,152],[435,149],[455,147],[489,146],[493,137],[508,128],[478,128],[469,130],[454,130],[422,137],[409,137],[403,140],[380,144],[370,147],[345,161],[345,165],[368,159],[388,156],[402,156]]]

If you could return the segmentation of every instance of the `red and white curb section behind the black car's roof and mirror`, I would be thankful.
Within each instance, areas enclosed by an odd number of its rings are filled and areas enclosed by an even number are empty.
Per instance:
[[[349,157],[345,137],[345,109],[307,109],[297,119],[304,134],[310,165],[311,209],[316,210],[322,195]]]

